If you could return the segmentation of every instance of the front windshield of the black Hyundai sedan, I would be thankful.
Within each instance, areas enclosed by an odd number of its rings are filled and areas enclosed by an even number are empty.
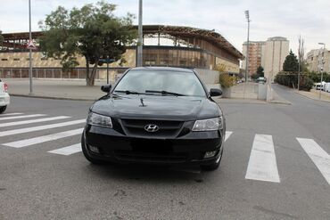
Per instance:
[[[128,92],[129,91],[129,92]],[[130,70],[114,93],[205,96],[204,88],[193,72],[156,69]]]

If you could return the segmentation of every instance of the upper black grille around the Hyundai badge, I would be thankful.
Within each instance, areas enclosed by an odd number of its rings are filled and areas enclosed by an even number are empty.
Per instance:
[[[128,135],[150,136],[150,137],[177,137],[182,125],[181,121],[170,120],[140,120],[140,119],[121,119],[122,126]],[[147,132],[144,126],[159,126],[157,132]]]

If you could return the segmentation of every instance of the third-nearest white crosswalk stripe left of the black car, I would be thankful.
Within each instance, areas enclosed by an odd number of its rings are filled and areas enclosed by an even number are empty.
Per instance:
[[[55,127],[61,127],[61,126],[71,126],[71,125],[81,124],[84,122],[86,122],[86,119],[67,121],[67,122],[62,122],[62,123],[57,123],[57,124],[46,125],[46,126],[31,126],[31,127],[27,127],[27,128],[14,129],[14,130],[0,132],[0,137],[12,135],[12,134],[23,134],[23,133],[41,131],[41,130],[55,128]]]

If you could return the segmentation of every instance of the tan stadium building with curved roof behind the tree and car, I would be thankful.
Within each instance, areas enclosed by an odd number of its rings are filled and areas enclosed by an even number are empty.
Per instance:
[[[137,27],[135,27],[137,29]],[[238,73],[240,53],[219,33],[206,29],[189,27],[147,25],[144,26],[144,66],[185,67],[192,69],[214,70]],[[43,35],[32,32],[32,38]],[[29,77],[29,33],[3,34],[4,44],[0,51],[0,78]],[[121,73],[136,66],[136,46],[128,46],[124,53],[126,62],[110,65],[111,80],[116,73]],[[47,58],[38,50],[33,51],[33,77],[40,78],[85,78],[85,58],[78,57],[79,65],[70,72],[63,72],[60,60]],[[106,65],[98,69],[96,79],[106,77]]]

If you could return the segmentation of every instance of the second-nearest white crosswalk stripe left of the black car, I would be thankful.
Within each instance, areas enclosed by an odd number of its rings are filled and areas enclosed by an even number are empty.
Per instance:
[[[60,133],[56,133],[56,134],[48,134],[45,136],[29,138],[29,139],[21,140],[18,142],[3,143],[2,145],[12,147],[12,148],[23,148],[23,147],[28,147],[30,145],[34,145],[37,143],[50,142],[50,141],[54,141],[54,140],[61,139],[64,137],[70,137],[73,135],[81,134],[83,132],[83,130],[84,130],[84,128],[78,128],[75,130],[60,132]]]

